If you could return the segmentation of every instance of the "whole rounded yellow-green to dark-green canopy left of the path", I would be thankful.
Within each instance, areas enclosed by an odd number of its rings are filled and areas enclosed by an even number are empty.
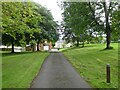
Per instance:
[[[57,23],[51,12],[34,2],[2,2],[2,43],[25,46],[56,41]]]

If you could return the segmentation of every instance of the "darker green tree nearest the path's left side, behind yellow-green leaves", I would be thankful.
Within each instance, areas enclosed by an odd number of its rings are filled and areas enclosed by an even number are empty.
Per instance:
[[[36,41],[37,41],[37,50],[39,51],[39,43],[43,42],[44,40],[52,41],[52,43],[56,42],[58,39],[57,35],[57,23],[54,21],[51,12],[41,5],[36,5],[39,9],[37,12],[43,17],[42,22],[39,22],[39,26],[41,29],[41,33],[36,33]]]

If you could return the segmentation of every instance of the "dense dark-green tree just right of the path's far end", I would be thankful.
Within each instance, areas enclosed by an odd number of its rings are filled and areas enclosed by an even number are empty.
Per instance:
[[[89,29],[92,21],[87,2],[65,2],[63,8],[65,34],[71,34],[73,40],[77,42],[77,47],[79,42],[83,42],[82,46],[84,47],[85,39],[87,39],[85,38],[86,30]]]

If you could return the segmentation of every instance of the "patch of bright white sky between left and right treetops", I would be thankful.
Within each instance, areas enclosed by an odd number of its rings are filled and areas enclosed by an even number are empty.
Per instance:
[[[57,4],[58,0],[33,0],[33,1],[51,10],[51,13],[55,21],[60,22],[62,20],[62,16],[61,16],[62,11],[61,11],[61,8]]]

